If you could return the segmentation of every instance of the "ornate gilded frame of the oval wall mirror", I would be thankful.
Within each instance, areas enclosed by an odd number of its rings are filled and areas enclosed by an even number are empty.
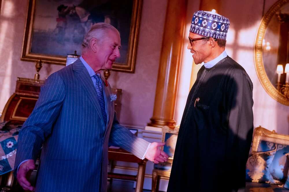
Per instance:
[[[277,1],[272,7],[268,10],[268,12],[263,16],[257,36],[255,41],[255,48],[254,48],[254,63],[255,63],[255,69],[257,72],[257,76],[260,80],[260,83],[262,84],[263,88],[266,90],[266,92],[276,101],[289,106],[289,100],[281,94],[275,87],[272,85],[271,81],[268,79],[268,76],[266,74],[266,71],[264,69],[264,63],[262,58],[262,42],[264,39],[264,35],[266,32],[266,28],[271,21],[271,18],[274,14],[276,14],[279,9],[288,3],[289,0],[279,0]]]

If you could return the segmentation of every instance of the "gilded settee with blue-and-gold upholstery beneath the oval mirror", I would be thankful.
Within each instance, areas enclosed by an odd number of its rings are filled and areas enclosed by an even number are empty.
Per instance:
[[[246,165],[246,189],[288,191],[289,135],[259,126],[254,130],[251,151]]]

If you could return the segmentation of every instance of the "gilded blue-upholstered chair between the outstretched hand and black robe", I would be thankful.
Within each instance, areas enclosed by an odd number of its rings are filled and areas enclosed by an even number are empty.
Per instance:
[[[152,192],[158,191],[160,178],[170,178],[178,133],[179,126],[176,126],[174,129],[167,126],[162,127],[162,142],[166,142],[166,145],[164,145],[162,149],[168,154],[169,158],[165,163],[154,165],[151,187]]]

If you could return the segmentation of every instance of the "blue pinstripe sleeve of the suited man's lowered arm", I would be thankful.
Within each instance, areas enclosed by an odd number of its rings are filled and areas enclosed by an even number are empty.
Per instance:
[[[57,73],[53,73],[41,87],[34,110],[19,132],[15,168],[23,160],[36,160],[45,138],[51,133],[64,97],[64,82]]]

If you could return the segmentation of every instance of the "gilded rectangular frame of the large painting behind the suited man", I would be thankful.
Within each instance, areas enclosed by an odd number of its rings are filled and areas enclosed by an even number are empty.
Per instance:
[[[66,64],[66,56],[55,56],[42,53],[31,52],[32,47],[32,35],[33,35],[33,25],[35,20],[36,12],[36,1],[29,0],[27,8],[27,16],[24,28],[24,36],[22,43],[21,60],[37,62],[40,60],[42,63],[47,64]],[[0,0],[1,2],[1,0]],[[131,24],[129,29],[129,38],[127,46],[127,61],[124,63],[115,63],[112,66],[113,71],[121,71],[127,73],[134,73],[134,67],[136,63],[136,52],[138,43],[138,33],[140,27],[140,17],[142,10],[142,0],[132,0],[132,14],[131,14]],[[69,53],[67,53],[69,54]]]

